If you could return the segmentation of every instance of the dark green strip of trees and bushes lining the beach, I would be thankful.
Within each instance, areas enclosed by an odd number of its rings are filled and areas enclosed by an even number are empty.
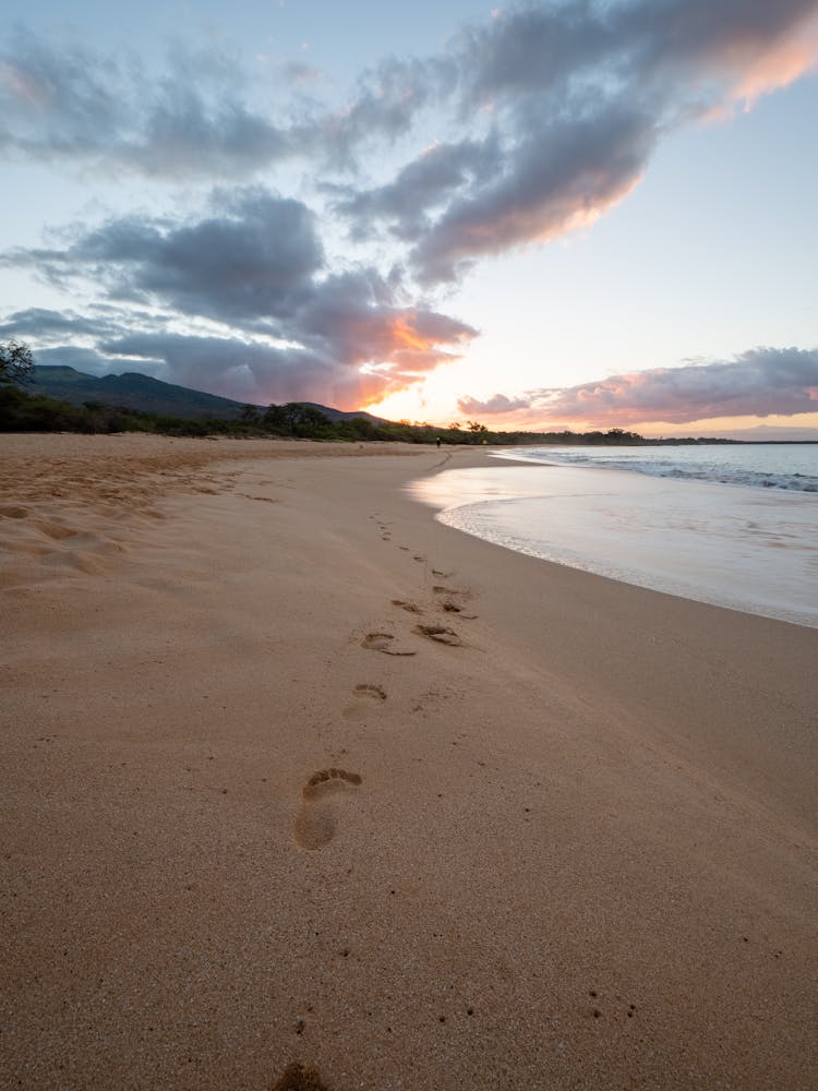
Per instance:
[[[646,440],[636,432],[614,428],[608,432],[492,432],[476,420],[464,428],[454,421],[448,428],[408,420],[375,423],[365,417],[332,421],[314,406],[291,401],[266,409],[244,406],[238,418],[190,419],[146,412],[127,406],[87,400],[81,406],[23,389],[31,377],[34,358],[19,341],[0,345],[0,432],[156,432],[161,435],[228,435],[234,437],[280,436],[299,440],[399,441],[402,443],[483,444],[525,446],[540,443],[635,445]],[[669,443],[719,443],[719,440],[670,440]]]

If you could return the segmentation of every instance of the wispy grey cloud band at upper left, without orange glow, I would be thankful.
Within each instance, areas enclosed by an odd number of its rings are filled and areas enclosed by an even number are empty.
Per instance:
[[[164,180],[246,180],[293,158],[347,170],[359,148],[407,133],[455,74],[446,58],[390,59],[330,108],[304,98],[321,73],[303,63],[275,65],[262,94],[245,69],[240,57],[177,45],[157,74],[134,57],[57,48],[19,28],[0,48],[0,149]]]

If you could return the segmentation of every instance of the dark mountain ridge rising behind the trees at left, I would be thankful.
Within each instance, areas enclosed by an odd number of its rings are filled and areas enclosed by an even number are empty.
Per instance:
[[[205,417],[222,417],[234,420],[241,415],[245,403],[220,398],[216,394],[191,391],[187,386],[163,383],[149,375],[127,371],[122,375],[87,375],[74,368],[37,364],[33,382],[28,385],[33,394],[46,394],[80,406],[84,401],[103,401],[109,406],[124,406],[143,412],[158,412],[169,417],[184,417],[202,420]],[[368,412],[344,412],[314,401],[302,405],[320,409],[332,421],[352,420],[363,417],[373,424],[383,423],[382,417]],[[258,406],[261,410],[266,406]]]

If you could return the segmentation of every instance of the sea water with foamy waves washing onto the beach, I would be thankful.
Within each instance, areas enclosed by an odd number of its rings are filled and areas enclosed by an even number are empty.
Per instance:
[[[412,493],[520,553],[818,627],[818,444],[496,454],[496,467],[444,470]]]

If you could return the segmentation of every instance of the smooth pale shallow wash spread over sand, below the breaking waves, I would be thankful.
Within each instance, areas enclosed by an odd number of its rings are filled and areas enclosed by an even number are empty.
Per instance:
[[[417,493],[442,523],[505,549],[694,602],[818,627],[813,496],[506,458],[444,470]]]

